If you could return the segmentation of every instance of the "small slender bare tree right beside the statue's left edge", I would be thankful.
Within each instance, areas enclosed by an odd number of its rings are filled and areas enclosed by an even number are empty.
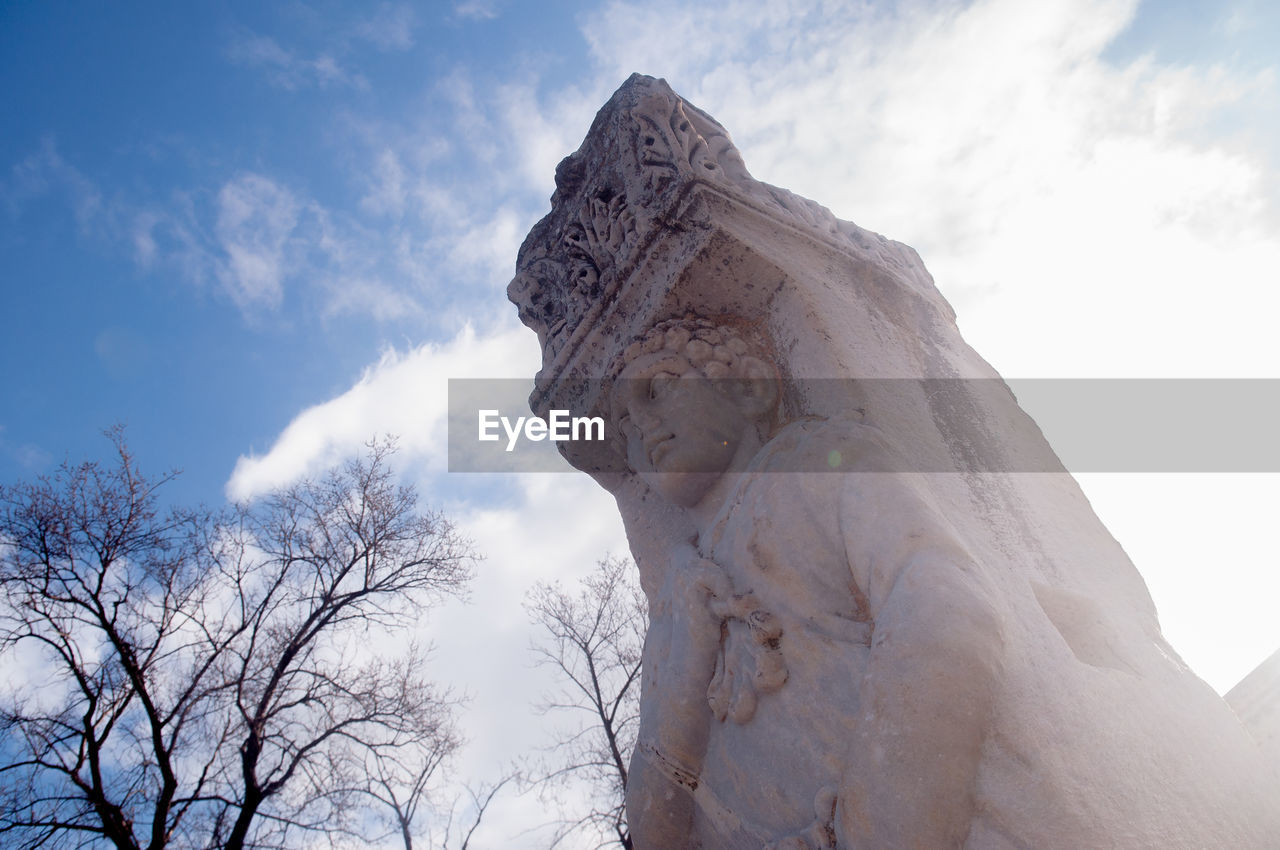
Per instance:
[[[549,750],[541,782],[577,780],[590,801],[567,818],[557,844],[589,831],[598,846],[630,850],[625,795],[627,767],[640,716],[640,653],[648,625],[644,595],[627,558],[596,563],[576,593],[539,584],[529,600],[532,621],[545,631],[534,646],[540,663],[559,673],[561,687],[544,708],[576,716]]]

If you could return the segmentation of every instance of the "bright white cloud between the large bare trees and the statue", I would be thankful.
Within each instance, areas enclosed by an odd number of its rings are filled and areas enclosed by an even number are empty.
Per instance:
[[[241,457],[227,484],[229,498],[251,499],[358,453],[370,437],[399,435],[397,466],[426,503],[444,503],[483,557],[470,600],[430,612],[421,632],[434,646],[433,678],[465,684],[468,698],[458,717],[468,744],[456,777],[492,780],[500,766],[550,742],[547,718],[535,712],[552,680],[529,649],[538,638],[524,609],[529,590],[538,581],[575,581],[607,553],[626,553],[613,499],[584,475],[467,474],[500,489],[502,506],[458,498],[457,489],[448,498],[451,476],[442,474],[447,380],[531,378],[538,362],[534,334],[509,326],[488,334],[468,326],[439,346],[388,352],[351,389],[294,417],[266,453]],[[536,826],[552,819],[536,795],[508,789],[475,840],[484,846],[536,842],[534,836],[544,835]]]

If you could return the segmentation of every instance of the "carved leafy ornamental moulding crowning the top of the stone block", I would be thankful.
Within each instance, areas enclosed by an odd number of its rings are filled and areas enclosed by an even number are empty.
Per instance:
[[[552,381],[586,329],[617,300],[667,216],[692,186],[714,188],[906,278],[914,252],[826,207],[755,180],[728,133],[666,81],[630,79],[599,111],[582,146],[556,169],[552,211],[520,250],[507,294],[543,347]],[[927,277],[927,274],[925,274]]]

